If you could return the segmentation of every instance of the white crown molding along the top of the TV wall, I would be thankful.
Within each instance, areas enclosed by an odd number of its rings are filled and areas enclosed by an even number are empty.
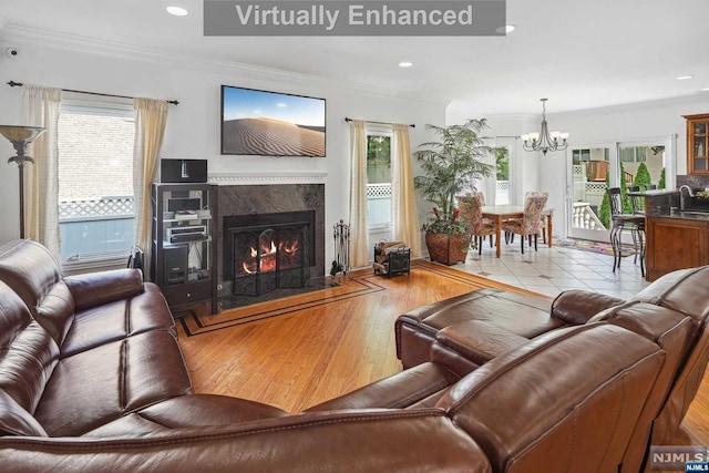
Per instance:
[[[1,20],[1,19],[0,19]],[[284,71],[280,69],[264,68],[236,61],[226,61],[214,58],[203,58],[188,54],[177,54],[172,51],[142,48],[106,41],[96,38],[82,37],[78,34],[61,33],[56,31],[40,30],[24,27],[17,23],[3,23],[0,21],[0,40],[19,41],[27,44],[34,44],[42,48],[54,48],[64,51],[79,53],[97,54],[112,56],[121,60],[144,62],[150,64],[161,64],[166,68],[181,68],[186,70],[198,70],[209,73],[239,74],[257,81],[281,81],[289,84],[302,86],[336,86],[351,91],[364,92],[376,96],[413,100],[422,103],[436,105],[448,105],[450,97],[440,95],[428,95],[422,97],[420,93],[413,91],[401,91],[388,88],[378,88],[371,84],[359,82],[343,82],[319,75],[304,74],[298,72]]]

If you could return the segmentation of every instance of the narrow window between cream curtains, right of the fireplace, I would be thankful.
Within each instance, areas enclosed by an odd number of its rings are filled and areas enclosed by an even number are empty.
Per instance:
[[[367,130],[369,228],[391,226],[391,131]]]

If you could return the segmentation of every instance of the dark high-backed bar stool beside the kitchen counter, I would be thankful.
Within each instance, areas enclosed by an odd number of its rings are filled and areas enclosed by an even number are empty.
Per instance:
[[[640,257],[640,274],[645,277],[645,216],[623,213],[623,196],[620,187],[609,187],[608,202],[610,204],[610,246],[613,248],[613,271],[620,267],[623,250],[623,232],[629,230],[635,249],[634,263]]]

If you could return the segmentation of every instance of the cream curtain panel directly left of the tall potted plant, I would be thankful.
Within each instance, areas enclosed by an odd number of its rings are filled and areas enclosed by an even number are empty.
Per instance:
[[[394,124],[391,146],[391,193],[394,240],[404,241],[412,256],[421,256],[421,228],[413,187],[409,125]]]

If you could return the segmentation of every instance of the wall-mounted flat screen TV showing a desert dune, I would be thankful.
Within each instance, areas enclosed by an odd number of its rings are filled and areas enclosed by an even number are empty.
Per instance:
[[[325,157],[325,99],[222,85],[222,154]]]

